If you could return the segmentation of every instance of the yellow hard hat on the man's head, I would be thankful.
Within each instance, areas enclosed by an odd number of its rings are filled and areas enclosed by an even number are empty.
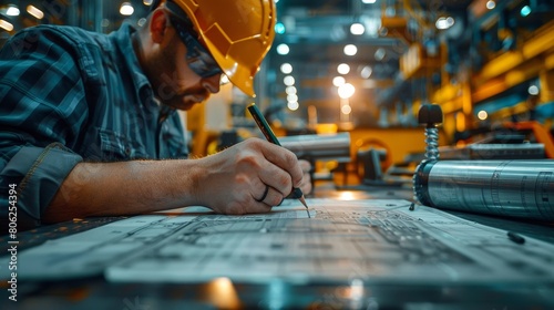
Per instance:
[[[230,82],[249,96],[275,38],[274,0],[172,0],[188,16]]]

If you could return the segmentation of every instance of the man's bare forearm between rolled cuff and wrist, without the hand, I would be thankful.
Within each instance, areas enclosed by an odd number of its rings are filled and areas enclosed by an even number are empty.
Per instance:
[[[151,213],[194,204],[191,161],[80,163],[62,183],[43,221]]]

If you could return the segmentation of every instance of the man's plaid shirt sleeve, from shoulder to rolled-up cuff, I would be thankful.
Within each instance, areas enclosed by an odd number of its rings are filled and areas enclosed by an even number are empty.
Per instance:
[[[83,158],[71,151],[88,118],[71,46],[55,33],[14,35],[0,51],[0,220],[16,187],[18,226],[40,225],[60,185]]]

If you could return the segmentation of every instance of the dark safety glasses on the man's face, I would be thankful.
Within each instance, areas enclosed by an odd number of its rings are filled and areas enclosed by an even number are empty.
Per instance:
[[[223,71],[212,54],[193,35],[195,31],[188,20],[171,14],[170,21],[177,31],[178,37],[186,45],[186,62],[188,66],[202,78],[222,74]]]

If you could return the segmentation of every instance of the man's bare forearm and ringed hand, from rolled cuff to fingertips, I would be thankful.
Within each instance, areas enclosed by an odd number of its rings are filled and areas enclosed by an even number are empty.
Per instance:
[[[191,205],[219,214],[266,213],[293,187],[302,187],[296,155],[250,138],[199,159],[80,163],[60,186],[42,220],[133,215]],[[264,190],[266,198],[256,198]],[[302,190],[309,193],[309,188]]]

